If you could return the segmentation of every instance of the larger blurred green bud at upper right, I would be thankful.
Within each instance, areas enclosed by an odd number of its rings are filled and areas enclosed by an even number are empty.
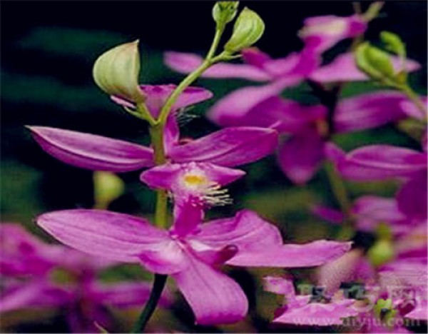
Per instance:
[[[373,80],[394,86],[394,67],[386,52],[366,42],[355,51],[355,61],[358,68]]]

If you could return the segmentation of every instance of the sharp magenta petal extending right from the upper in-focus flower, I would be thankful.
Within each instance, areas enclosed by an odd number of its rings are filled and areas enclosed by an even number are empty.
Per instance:
[[[277,146],[277,131],[268,128],[224,128],[170,151],[178,163],[208,162],[233,167],[257,161]]]

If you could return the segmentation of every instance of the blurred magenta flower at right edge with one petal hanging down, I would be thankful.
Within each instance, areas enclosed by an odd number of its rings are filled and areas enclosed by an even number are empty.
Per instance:
[[[370,145],[345,154],[337,146],[326,148],[344,178],[352,181],[404,179],[397,193],[399,210],[406,216],[427,218],[427,152],[391,145]]]

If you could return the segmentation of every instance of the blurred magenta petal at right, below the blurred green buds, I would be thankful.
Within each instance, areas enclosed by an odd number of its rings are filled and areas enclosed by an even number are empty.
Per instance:
[[[402,93],[377,91],[346,98],[337,106],[335,126],[337,131],[358,131],[376,128],[405,118],[401,104]]]

